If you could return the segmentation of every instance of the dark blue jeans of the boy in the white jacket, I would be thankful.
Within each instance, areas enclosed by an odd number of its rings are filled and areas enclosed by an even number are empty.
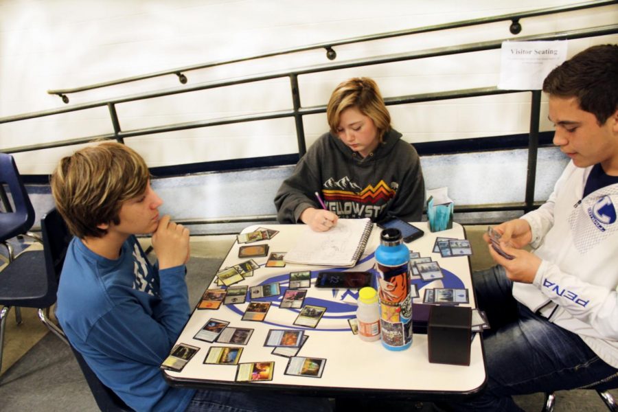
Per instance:
[[[502,266],[475,272],[479,308],[488,315],[483,333],[487,386],[454,411],[521,411],[513,395],[618,386],[618,369],[602,361],[573,332],[519,304]]]

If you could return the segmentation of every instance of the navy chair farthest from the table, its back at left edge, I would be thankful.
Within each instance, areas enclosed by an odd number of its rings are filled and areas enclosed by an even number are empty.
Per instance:
[[[0,197],[6,211],[0,213],[0,243],[8,250],[9,263],[13,260],[13,249],[8,240],[27,233],[34,225],[34,207],[25,190],[17,165],[11,155],[0,153],[0,185],[8,185],[15,210],[12,209],[4,188]]]

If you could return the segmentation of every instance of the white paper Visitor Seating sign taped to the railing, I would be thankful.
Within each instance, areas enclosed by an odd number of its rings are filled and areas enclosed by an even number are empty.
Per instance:
[[[549,72],[567,60],[567,41],[502,43],[499,89],[540,90]]]

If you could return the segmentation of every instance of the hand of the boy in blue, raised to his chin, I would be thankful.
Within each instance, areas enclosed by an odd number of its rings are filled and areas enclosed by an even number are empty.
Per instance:
[[[159,260],[159,270],[185,264],[189,260],[189,229],[170,221],[165,215],[152,235],[152,248]]]

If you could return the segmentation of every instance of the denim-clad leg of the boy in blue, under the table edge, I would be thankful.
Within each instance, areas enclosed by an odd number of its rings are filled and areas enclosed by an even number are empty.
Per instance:
[[[330,412],[327,398],[277,395],[259,391],[197,391],[187,412]]]

